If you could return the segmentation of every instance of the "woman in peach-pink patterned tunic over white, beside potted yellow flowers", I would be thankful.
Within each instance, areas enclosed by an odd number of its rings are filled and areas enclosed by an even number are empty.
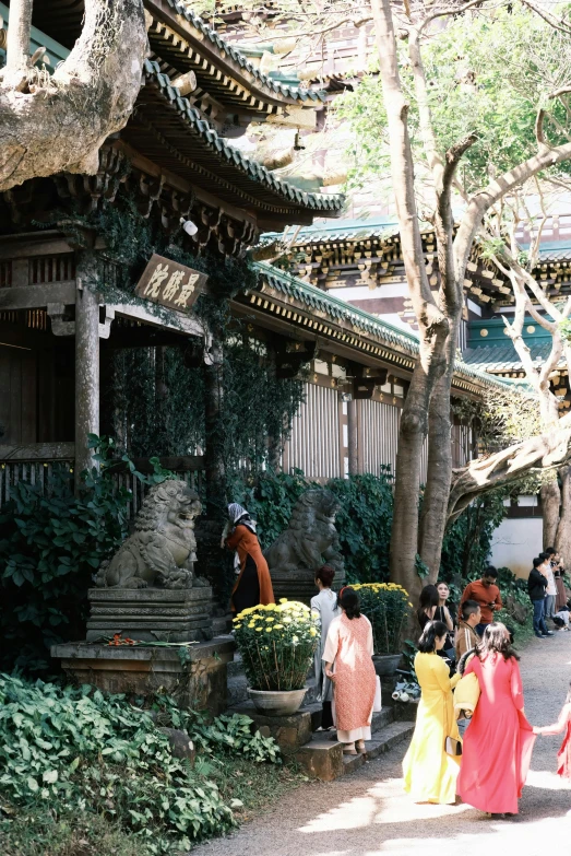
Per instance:
[[[325,675],[333,681],[333,720],[345,754],[365,751],[371,739],[376,672],[369,619],[360,613],[359,597],[352,588],[340,595],[341,615],[329,625],[323,649]]]

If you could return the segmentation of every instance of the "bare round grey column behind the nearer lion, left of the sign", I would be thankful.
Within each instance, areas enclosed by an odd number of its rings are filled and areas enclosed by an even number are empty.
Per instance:
[[[75,291],[75,492],[81,473],[93,467],[87,435],[99,434],[99,298],[97,258],[78,254]]]

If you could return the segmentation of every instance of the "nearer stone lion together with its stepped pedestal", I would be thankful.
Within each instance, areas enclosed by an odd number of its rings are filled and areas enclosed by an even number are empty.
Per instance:
[[[183,481],[151,488],[134,532],[90,589],[87,642],[120,633],[144,642],[212,638],[212,588],[194,574],[202,506]]]

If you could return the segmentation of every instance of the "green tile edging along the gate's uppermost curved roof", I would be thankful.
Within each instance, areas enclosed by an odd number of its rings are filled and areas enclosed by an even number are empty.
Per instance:
[[[255,68],[243,54],[234,47],[229,42],[212,30],[199,15],[192,12],[186,3],[180,0],[165,0],[173,9],[175,14],[182,15],[186,21],[199,31],[203,44],[214,48],[223,59],[229,59],[236,63],[242,73],[246,73],[257,86],[262,86],[273,98],[284,98],[286,101],[297,101],[304,104],[320,104],[325,101],[325,93],[316,90],[306,90],[300,86],[287,85],[272,80],[267,74]]]

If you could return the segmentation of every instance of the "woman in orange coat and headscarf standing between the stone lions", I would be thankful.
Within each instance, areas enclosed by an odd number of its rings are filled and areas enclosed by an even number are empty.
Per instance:
[[[238,613],[259,603],[274,603],[270,570],[255,535],[255,520],[235,502],[228,505],[228,518],[233,528],[225,543],[236,550],[240,562],[240,573],[231,593],[231,611]]]

